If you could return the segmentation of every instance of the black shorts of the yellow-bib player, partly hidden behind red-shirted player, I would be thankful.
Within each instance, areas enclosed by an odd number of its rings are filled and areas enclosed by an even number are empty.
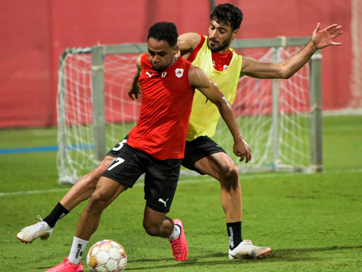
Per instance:
[[[118,144],[116,144],[108,153],[108,156],[117,157],[119,151],[123,147],[123,144],[126,143],[128,139],[128,135],[123,138]],[[193,170],[199,174],[204,175],[203,173],[199,172],[195,168],[195,163],[202,158],[210,156],[211,154],[219,153],[226,151],[222,149],[218,144],[216,144],[211,138],[207,136],[200,136],[192,141],[186,141],[185,145],[185,156],[182,160],[182,166],[187,169]]]

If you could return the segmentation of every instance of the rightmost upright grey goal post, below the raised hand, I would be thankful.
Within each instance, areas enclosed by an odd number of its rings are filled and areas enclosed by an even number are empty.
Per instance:
[[[310,61],[311,167],[315,172],[323,171],[321,58],[317,51]]]

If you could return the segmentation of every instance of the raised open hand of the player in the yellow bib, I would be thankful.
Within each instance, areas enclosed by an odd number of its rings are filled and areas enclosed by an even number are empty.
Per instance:
[[[316,49],[322,49],[329,45],[341,45],[340,42],[333,42],[332,40],[342,35],[342,26],[334,24],[330,25],[323,30],[320,29],[320,23],[317,24],[316,29],[313,31],[312,42]]]

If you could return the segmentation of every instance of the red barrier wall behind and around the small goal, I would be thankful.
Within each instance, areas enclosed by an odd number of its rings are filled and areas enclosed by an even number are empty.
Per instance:
[[[322,51],[323,108],[348,106],[352,59],[349,1],[229,3],[244,13],[238,38],[310,36],[317,22],[322,27],[341,24],[344,34],[338,41],[342,46]],[[146,42],[149,26],[157,21],[174,22],[180,34],[206,34],[209,13],[207,0],[2,0],[0,127],[56,123],[58,60],[67,47]]]

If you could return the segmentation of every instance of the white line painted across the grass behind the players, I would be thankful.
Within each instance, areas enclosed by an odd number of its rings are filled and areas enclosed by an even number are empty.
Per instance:
[[[340,173],[362,173],[361,169],[351,169],[351,170],[344,170],[344,171],[330,171],[324,172],[324,174],[340,174]],[[265,174],[241,174],[240,180],[252,180],[252,179],[261,179],[261,178],[273,178],[273,177],[286,177],[286,176],[300,176],[300,175],[310,175],[305,173],[265,173]],[[178,181],[178,184],[190,184],[190,183],[201,183],[201,182],[212,182],[216,180],[209,176],[202,176],[201,178],[195,177],[185,177],[181,178]],[[134,187],[143,186],[143,183],[136,183]],[[60,189],[50,189],[50,190],[32,190],[32,191],[16,191],[16,192],[8,192],[8,193],[0,193],[0,197],[9,197],[13,195],[27,195],[27,194],[47,194],[47,193],[58,193],[58,192],[66,192],[69,188],[60,188]]]

